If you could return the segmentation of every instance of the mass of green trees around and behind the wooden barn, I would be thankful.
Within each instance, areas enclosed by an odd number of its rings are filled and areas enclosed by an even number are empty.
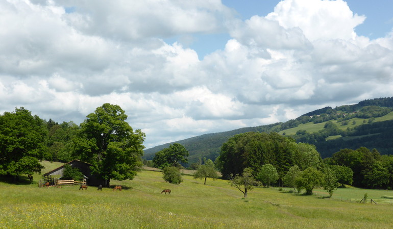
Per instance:
[[[58,124],[32,115],[24,108],[0,116],[0,175],[18,180],[40,173],[40,161],[92,164],[91,171],[109,186],[110,179],[133,179],[142,165],[145,134],[133,130],[117,105],[104,104],[77,125]]]

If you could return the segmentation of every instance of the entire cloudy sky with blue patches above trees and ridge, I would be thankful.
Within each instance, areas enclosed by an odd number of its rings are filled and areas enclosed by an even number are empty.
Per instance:
[[[391,0],[3,0],[0,114],[119,105],[151,148],[393,96]]]

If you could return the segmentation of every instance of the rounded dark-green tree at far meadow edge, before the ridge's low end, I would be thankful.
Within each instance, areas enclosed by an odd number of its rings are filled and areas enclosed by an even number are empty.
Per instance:
[[[168,166],[180,167],[179,162],[188,163],[188,151],[183,145],[174,143],[169,145],[168,148],[164,148],[156,153],[154,156],[153,164],[154,167],[163,169]]]

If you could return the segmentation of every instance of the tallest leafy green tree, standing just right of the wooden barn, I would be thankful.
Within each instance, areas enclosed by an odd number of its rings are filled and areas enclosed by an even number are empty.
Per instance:
[[[81,123],[75,154],[91,163],[92,172],[107,180],[133,179],[142,165],[145,134],[133,131],[118,105],[104,104]]]

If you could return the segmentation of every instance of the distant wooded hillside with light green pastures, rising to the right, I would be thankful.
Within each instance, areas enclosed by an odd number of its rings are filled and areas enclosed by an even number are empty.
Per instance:
[[[189,151],[189,163],[204,157],[214,161],[224,142],[246,132],[278,132],[291,136],[297,142],[316,145],[323,158],[341,148],[360,146],[376,148],[381,154],[393,154],[392,111],[393,97],[367,99],[354,105],[317,109],[286,122],[204,134],[176,142]],[[143,159],[153,159],[157,151],[173,143],[144,150]]]

